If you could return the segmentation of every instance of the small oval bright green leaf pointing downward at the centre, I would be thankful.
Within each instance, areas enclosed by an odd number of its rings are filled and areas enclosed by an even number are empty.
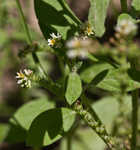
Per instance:
[[[67,102],[72,105],[82,93],[82,83],[80,76],[73,72],[69,74],[65,97]]]

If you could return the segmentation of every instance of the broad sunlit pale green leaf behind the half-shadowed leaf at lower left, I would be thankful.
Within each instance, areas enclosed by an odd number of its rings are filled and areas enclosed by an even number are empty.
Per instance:
[[[16,120],[22,128],[28,130],[32,121],[40,113],[51,108],[54,108],[54,103],[49,102],[46,99],[35,100],[19,108],[10,121],[15,123]]]

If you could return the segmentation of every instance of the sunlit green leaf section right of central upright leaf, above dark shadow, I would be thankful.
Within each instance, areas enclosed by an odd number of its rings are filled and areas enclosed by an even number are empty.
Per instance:
[[[99,73],[111,68],[113,68],[113,66],[108,63],[96,63],[86,68],[80,74],[80,77],[84,82],[90,83]]]

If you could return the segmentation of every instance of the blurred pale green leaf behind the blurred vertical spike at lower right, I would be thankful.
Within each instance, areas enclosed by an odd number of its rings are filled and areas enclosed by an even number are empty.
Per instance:
[[[125,96],[123,100],[126,110],[125,114],[128,114],[131,112],[131,96]],[[99,102],[93,104],[92,107],[105,124],[108,132],[111,132],[112,123],[119,114],[117,97],[109,96],[102,98]]]

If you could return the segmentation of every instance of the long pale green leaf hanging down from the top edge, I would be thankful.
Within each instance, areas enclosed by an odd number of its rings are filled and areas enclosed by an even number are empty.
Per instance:
[[[105,32],[105,18],[110,0],[90,0],[89,23],[92,25],[95,35],[101,37]]]

